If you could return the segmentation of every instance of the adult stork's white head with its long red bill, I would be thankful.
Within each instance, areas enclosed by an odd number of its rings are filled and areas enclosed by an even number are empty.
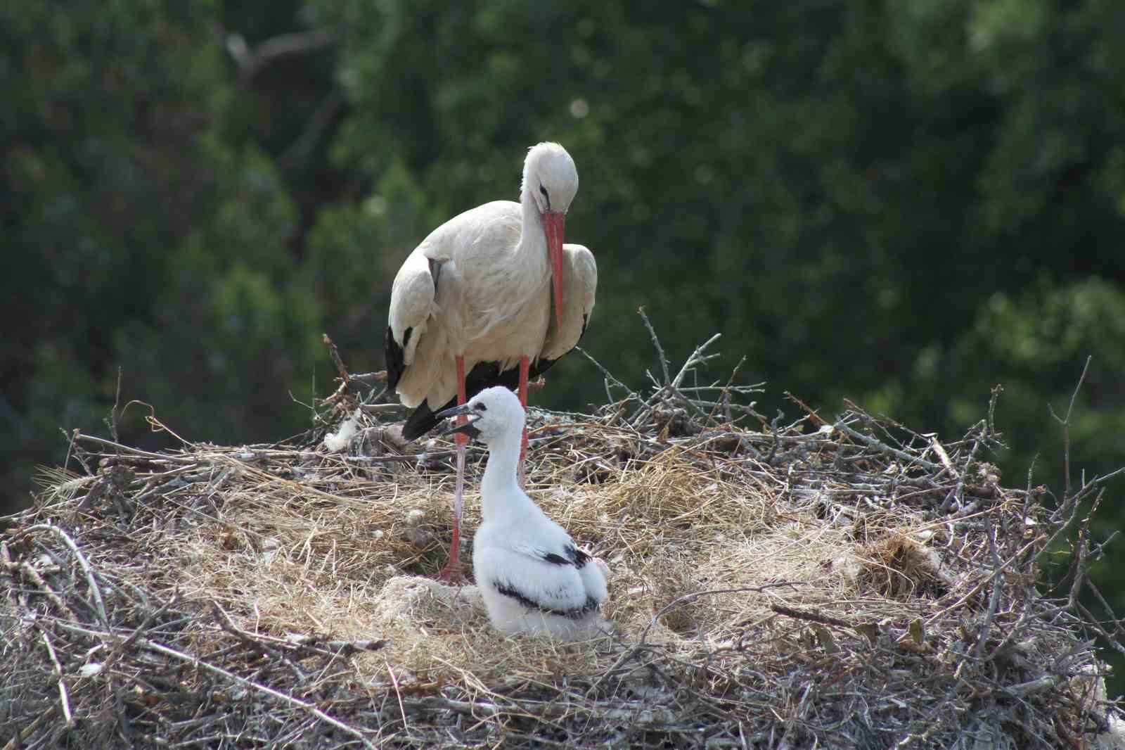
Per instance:
[[[534,202],[547,236],[555,292],[555,319],[562,325],[562,233],[566,212],[578,191],[578,170],[566,149],[558,143],[531,146],[523,162],[522,193]]]

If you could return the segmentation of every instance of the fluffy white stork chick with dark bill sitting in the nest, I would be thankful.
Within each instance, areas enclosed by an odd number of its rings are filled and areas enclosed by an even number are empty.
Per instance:
[[[516,481],[524,410],[511,391],[490,387],[440,417],[467,414],[450,431],[488,445],[480,483],[483,521],[472,538],[472,569],[488,619],[506,633],[541,632],[574,640],[604,626],[606,597],[596,561],[575,546]]]

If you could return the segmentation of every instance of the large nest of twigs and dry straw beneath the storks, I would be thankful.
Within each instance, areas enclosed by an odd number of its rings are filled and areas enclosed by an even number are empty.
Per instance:
[[[1037,586],[1078,501],[1000,486],[987,421],[738,427],[749,389],[683,385],[703,349],[647,398],[533,411],[530,493],[611,570],[614,630],[582,643],[424,578],[450,446],[381,408],[339,400],[343,453],[80,437],[88,473],[0,537],[4,750],[1125,747],[1092,626]]]

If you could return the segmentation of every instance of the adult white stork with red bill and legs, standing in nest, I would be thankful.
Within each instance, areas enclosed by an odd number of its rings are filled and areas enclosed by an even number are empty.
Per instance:
[[[388,383],[414,411],[403,437],[424,435],[435,412],[492,385],[519,390],[578,343],[594,309],[597,266],[580,244],[564,244],[578,190],[570,154],[531,148],[520,203],[494,200],[449,220],[414,249],[390,291]],[[554,315],[551,309],[554,307]],[[458,435],[453,543],[443,580],[460,577],[464,435]],[[524,431],[520,468],[526,446]]]

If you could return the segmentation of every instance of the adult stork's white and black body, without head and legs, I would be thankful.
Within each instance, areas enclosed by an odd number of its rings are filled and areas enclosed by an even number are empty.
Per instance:
[[[387,350],[390,372],[402,357],[395,385],[403,404],[415,409],[403,430],[407,439],[429,431],[433,413],[457,396],[458,354],[471,398],[490,385],[515,385],[522,357],[532,377],[544,372],[582,338],[597,285],[594,256],[580,244],[562,245],[560,323],[551,314],[554,269],[542,232],[530,248],[519,243],[521,225],[534,230],[538,222],[524,212],[495,200],[451,218],[395,277]]]

